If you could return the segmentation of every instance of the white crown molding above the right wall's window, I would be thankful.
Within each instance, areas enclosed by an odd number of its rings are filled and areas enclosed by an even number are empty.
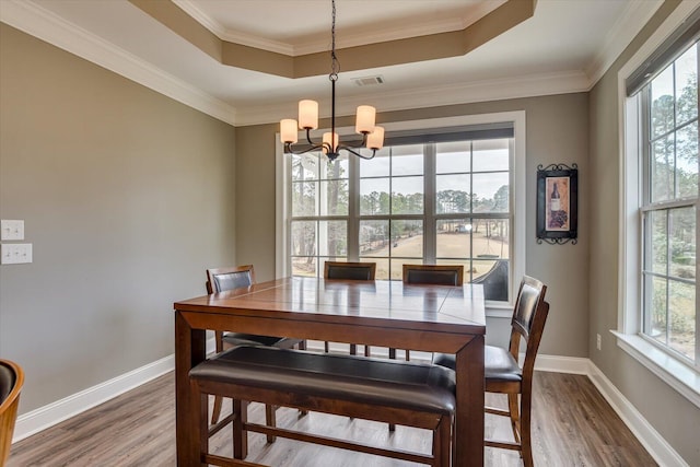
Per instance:
[[[603,78],[663,3],[664,0],[632,0],[627,4],[618,22],[608,31],[604,47],[586,68],[590,87]]]

